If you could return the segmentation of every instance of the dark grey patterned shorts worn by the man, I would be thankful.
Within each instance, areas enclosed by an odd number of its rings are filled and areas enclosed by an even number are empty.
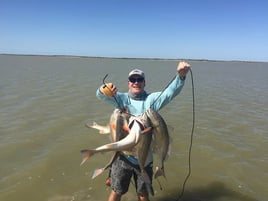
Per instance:
[[[150,180],[153,176],[153,164],[147,165],[145,168]],[[138,165],[133,165],[124,156],[119,156],[112,164],[111,168],[111,188],[120,195],[128,191],[129,183],[133,175],[136,191],[138,194],[147,193],[145,182],[141,176]]]

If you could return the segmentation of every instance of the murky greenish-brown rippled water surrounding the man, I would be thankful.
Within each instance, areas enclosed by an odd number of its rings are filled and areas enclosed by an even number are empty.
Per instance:
[[[91,179],[111,154],[80,166],[80,149],[109,137],[85,123],[106,124],[111,105],[95,96],[102,79],[126,91],[132,68],[146,73],[146,90],[160,91],[178,61],[46,56],[0,56],[0,200],[104,201],[108,172]],[[195,86],[195,132],[187,201],[267,201],[268,63],[190,61]],[[152,201],[175,201],[188,173],[192,128],[190,75],[163,108],[173,138],[166,177],[153,181]],[[130,184],[123,201],[136,200]]]

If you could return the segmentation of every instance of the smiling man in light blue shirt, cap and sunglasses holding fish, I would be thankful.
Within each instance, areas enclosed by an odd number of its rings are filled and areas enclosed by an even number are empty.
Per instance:
[[[97,90],[96,96],[101,100],[112,103],[117,108],[127,108],[128,112],[135,116],[141,115],[149,108],[159,111],[180,93],[189,69],[190,65],[187,62],[179,62],[175,79],[164,92],[154,93],[147,93],[144,90],[145,74],[139,69],[134,69],[128,76],[128,93],[118,92],[117,88],[111,84],[108,90],[107,86],[102,85]],[[153,174],[152,162],[153,158],[150,156],[150,161],[145,167],[151,180]],[[121,200],[121,196],[128,191],[132,176],[134,176],[138,200],[149,201],[149,193],[146,189],[145,182],[141,174],[139,174],[137,158],[134,155],[129,155],[124,152],[114,161],[111,167],[112,191],[108,201]]]

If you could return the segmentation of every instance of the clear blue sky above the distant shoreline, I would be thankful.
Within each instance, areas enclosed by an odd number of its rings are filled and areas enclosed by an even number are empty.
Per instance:
[[[0,0],[0,53],[268,61],[266,0]]]

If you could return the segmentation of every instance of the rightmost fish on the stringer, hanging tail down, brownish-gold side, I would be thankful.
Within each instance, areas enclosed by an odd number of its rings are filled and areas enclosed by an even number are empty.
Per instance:
[[[158,154],[158,165],[156,166],[154,178],[165,177],[164,161],[168,158],[170,150],[170,136],[167,124],[162,116],[153,109],[148,109],[145,113],[153,127],[154,149]]]

